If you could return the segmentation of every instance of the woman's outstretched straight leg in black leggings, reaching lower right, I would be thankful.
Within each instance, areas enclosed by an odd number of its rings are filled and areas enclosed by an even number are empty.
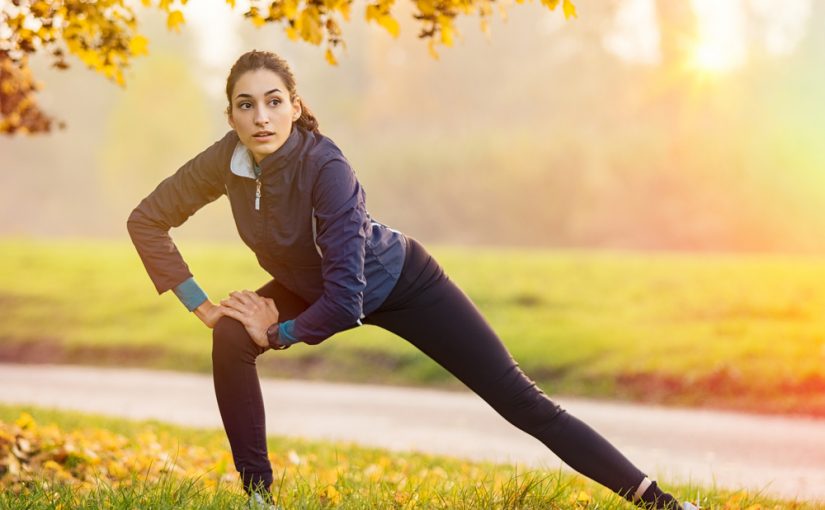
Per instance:
[[[408,340],[573,469],[632,500],[645,474],[595,430],[550,400],[424,248],[414,239],[408,247],[396,288],[364,322]],[[644,500],[656,500],[660,507],[678,504],[655,482]]]

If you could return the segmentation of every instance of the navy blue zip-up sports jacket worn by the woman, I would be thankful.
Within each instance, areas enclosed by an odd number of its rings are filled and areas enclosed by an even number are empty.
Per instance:
[[[226,194],[260,266],[311,303],[292,325],[298,341],[317,344],[360,325],[398,280],[403,234],[370,217],[355,172],[326,136],[293,125],[284,145],[260,162],[260,178],[254,170],[229,131],[132,211],[129,235],[158,293],[192,277],[169,229]]]

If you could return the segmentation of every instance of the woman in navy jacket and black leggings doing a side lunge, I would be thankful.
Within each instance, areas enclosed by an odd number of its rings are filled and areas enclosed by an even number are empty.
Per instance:
[[[578,472],[638,506],[679,505],[521,371],[418,241],[370,217],[355,173],[319,132],[284,60],[245,53],[226,96],[232,130],[164,179],[127,226],[158,293],[172,289],[213,328],[215,393],[250,502],[271,503],[272,484],[257,356],[372,324],[411,342]],[[273,279],[215,305],[168,231],[224,193],[241,239]]]

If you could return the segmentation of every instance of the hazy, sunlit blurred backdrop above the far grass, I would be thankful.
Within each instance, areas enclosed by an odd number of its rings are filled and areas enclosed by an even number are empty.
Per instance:
[[[576,4],[565,21],[511,3],[489,40],[465,16],[435,60],[402,2],[397,40],[354,15],[337,67],[225,2],[190,2],[179,34],[138,7],[150,54],[125,89],[34,60],[68,128],[0,140],[0,235],[122,239],[140,199],[229,129],[229,67],[257,48],[291,62],[372,215],[424,241],[822,253],[825,5]],[[225,197],[176,238],[238,240]]]

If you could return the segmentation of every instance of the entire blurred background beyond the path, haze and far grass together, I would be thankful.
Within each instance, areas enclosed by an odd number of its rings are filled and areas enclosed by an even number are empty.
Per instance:
[[[438,59],[404,2],[398,39],[354,6],[331,66],[199,0],[180,33],[136,7],[150,53],[125,89],[35,60],[68,127],[0,140],[0,360],[211,373],[209,330],[158,297],[126,218],[230,129],[226,76],[255,48],[291,62],[373,217],[548,393],[825,416],[825,3],[502,5]],[[171,235],[213,302],[271,278],[226,197]],[[466,390],[376,327],[258,369]]]

